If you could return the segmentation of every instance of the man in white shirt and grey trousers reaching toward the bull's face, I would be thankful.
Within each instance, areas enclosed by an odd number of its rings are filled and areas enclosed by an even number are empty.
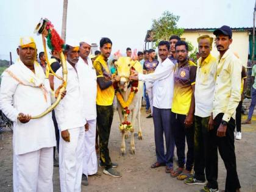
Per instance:
[[[153,84],[153,121],[155,135],[155,153],[157,162],[151,168],[166,166],[165,172],[173,169],[174,137],[171,127],[171,107],[174,90],[174,68],[175,65],[168,58],[170,45],[168,41],[160,41],[158,54],[160,63],[155,71],[150,74],[137,74],[133,72],[130,79],[141,80]],[[163,133],[165,133],[166,153],[164,147]]]

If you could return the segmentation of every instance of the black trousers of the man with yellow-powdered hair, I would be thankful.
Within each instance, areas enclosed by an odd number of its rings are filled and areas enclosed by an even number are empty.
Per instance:
[[[218,148],[213,144],[216,131],[208,130],[209,119],[210,116],[194,116],[194,177],[205,180],[206,175],[208,187],[218,188]]]

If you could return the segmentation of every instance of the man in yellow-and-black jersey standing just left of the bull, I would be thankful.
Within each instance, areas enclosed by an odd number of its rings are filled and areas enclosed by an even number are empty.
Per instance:
[[[106,37],[102,38],[99,46],[101,55],[99,55],[93,63],[97,74],[96,109],[99,132],[99,164],[100,166],[105,166],[103,170],[104,174],[113,177],[121,177],[121,174],[113,169],[117,164],[111,162],[108,150],[108,139],[113,121],[113,99],[115,96],[113,83],[119,81],[119,77],[116,76],[115,79],[112,79],[107,64],[107,59],[112,51],[112,41]]]

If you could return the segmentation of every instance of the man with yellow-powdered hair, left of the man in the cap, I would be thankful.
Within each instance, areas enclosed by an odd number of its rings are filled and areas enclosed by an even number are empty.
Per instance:
[[[185,180],[188,185],[204,185],[207,179],[207,190],[218,191],[218,170],[211,169],[209,161],[218,160],[218,154],[212,153],[210,143],[215,140],[213,131],[213,96],[215,92],[216,58],[212,51],[213,38],[202,35],[197,38],[200,58],[197,60],[196,85],[194,90],[194,176]],[[218,163],[218,162],[216,162]],[[218,166],[218,164],[217,164]],[[206,191],[207,191],[206,190]]]

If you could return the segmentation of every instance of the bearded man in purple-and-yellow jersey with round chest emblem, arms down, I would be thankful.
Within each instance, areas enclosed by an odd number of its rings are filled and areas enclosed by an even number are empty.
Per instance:
[[[191,176],[194,163],[194,84],[196,64],[188,59],[188,44],[178,41],[175,44],[176,63],[174,71],[174,94],[171,108],[171,126],[177,148],[179,168],[171,171],[172,177],[179,180]],[[185,141],[188,152],[185,157]],[[184,169],[186,163],[186,168]]]

